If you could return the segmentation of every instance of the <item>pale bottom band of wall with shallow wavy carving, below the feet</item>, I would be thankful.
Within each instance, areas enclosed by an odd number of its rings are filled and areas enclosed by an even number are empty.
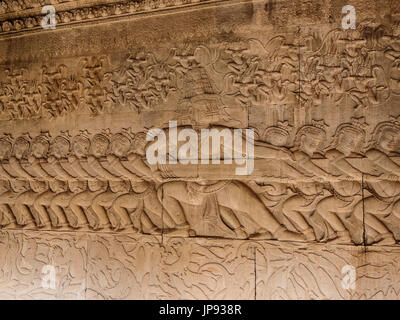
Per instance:
[[[397,247],[3,231],[1,299],[398,299]],[[45,266],[55,287],[43,286]],[[353,289],[341,270],[353,266]],[[256,272],[254,271],[256,270]],[[255,290],[256,285],[256,290]]]

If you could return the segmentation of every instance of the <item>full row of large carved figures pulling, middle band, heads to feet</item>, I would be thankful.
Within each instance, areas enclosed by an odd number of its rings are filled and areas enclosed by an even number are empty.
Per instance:
[[[195,226],[186,217],[186,204],[217,212],[220,222],[238,238],[315,241],[307,215],[318,212],[334,230],[334,241],[351,241],[341,216],[352,215],[374,231],[374,242],[394,244],[394,234],[382,218],[399,215],[400,165],[391,156],[398,147],[400,125],[395,118],[380,123],[366,151],[364,125],[363,119],[353,119],[337,128],[324,152],[328,163],[324,168],[313,159],[326,140],[321,122],[300,128],[291,150],[256,142],[255,157],[265,162],[278,160],[282,174],[292,178],[291,184],[286,177],[271,182],[269,172],[247,184],[239,177],[226,180],[223,176],[216,181],[189,181],[190,175],[179,176],[173,166],[155,169],[148,165],[144,155],[149,143],[144,133],[132,138],[124,131],[110,139],[106,133],[93,137],[81,133],[74,138],[64,133],[52,144],[46,134],[32,140],[21,136],[15,142],[5,136],[0,140],[1,224],[111,226],[115,230],[195,235]],[[284,132],[273,132],[277,136],[271,142],[282,141],[279,135]],[[351,163],[349,157],[355,154],[362,154],[375,173]],[[66,158],[68,161],[63,161]],[[363,190],[367,190],[364,198]],[[282,202],[282,212],[297,232],[279,222],[264,198]],[[249,234],[243,227],[241,215],[255,221],[256,233]]]

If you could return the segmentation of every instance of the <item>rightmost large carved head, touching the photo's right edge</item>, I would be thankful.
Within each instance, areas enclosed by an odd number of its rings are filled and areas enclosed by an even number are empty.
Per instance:
[[[379,123],[370,140],[367,149],[376,148],[384,153],[399,151],[400,147],[400,117]]]

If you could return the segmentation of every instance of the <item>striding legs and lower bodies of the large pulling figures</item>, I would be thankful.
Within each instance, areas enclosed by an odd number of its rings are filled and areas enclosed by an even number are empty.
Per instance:
[[[352,232],[357,228],[360,231],[365,223],[373,234],[373,243],[391,245],[396,243],[395,234],[383,218],[391,214],[400,218],[399,185],[392,197],[382,197],[376,189],[367,189],[363,198],[358,182],[334,186],[346,190],[347,195],[332,189],[329,193],[321,192],[322,186],[299,183],[290,186],[294,192],[285,190],[278,201],[262,184],[237,180],[178,180],[158,187],[145,180],[1,180],[0,186],[0,226],[7,228],[113,230],[187,237],[196,236],[197,226],[207,216],[219,224],[214,227],[229,229],[237,239],[313,242],[322,238],[310,223],[309,215],[318,214],[333,230],[324,242],[352,243]],[[284,190],[289,186],[275,183],[274,187]],[[381,183],[372,187],[385,186]],[[303,192],[312,188],[319,193]],[[294,229],[273,213],[276,204],[268,205],[265,201],[271,203],[272,197],[281,202],[280,210]],[[187,206],[207,212],[188,219]],[[348,227],[346,220],[350,217],[356,221],[356,228]],[[250,230],[243,223],[249,219],[255,229]]]

